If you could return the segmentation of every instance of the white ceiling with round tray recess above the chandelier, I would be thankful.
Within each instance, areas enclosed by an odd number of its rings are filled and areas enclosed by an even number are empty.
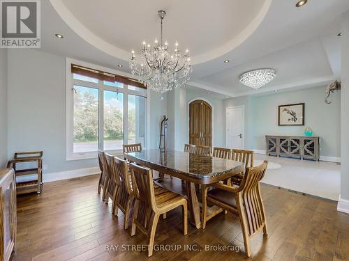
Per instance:
[[[341,13],[349,10],[348,0],[309,0],[302,8],[295,8],[295,0],[274,0],[270,6],[267,0],[117,1],[121,13],[112,0],[98,6],[91,0],[50,2],[41,1],[45,52],[110,68],[121,64],[124,72],[129,72],[128,50],[140,47],[143,39],[154,39],[157,10],[168,11],[165,39],[183,42],[182,49],[188,47],[197,58],[191,86],[222,98],[319,86],[340,77],[341,38],[336,35]],[[225,59],[230,63],[223,63]],[[257,92],[239,84],[239,74],[256,68],[277,72],[276,79]]]

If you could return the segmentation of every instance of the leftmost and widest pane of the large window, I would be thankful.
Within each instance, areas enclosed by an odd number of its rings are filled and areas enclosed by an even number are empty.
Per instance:
[[[98,89],[74,86],[73,152],[98,150]]]

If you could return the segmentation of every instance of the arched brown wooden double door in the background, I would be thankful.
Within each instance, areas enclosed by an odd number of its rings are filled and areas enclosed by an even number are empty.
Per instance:
[[[203,100],[189,104],[189,143],[212,146],[212,107]]]

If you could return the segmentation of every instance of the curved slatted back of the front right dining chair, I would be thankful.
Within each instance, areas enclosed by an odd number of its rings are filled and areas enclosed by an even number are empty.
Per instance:
[[[242,200],[248,221],[248,234],[253,235],[265,224],[264,207],[260,196],[260,180],[267,170],[267,161],[260,166],[248,167],[242,181]]]

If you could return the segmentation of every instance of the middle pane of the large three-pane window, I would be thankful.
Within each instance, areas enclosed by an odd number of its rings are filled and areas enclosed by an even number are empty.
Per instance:
[[[124,93],[104,90],[104,150],[124,144]]]

